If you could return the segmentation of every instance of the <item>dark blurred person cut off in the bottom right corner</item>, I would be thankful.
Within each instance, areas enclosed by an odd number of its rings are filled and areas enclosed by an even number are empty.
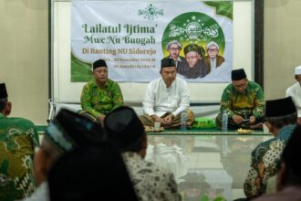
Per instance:
[[[277,173],[277,193],[260,196],[255,201],[301,200],[301,126],[298,125],[285,145],[282,163]]]

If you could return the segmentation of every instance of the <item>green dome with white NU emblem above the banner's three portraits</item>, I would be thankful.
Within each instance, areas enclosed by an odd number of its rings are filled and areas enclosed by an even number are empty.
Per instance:
[[[220,47],[220,55],[223,55],[225,46],[222,27],[213,17],[197,12],[189,12],[176,16],[166,26],[161,44],[165,56],[169,55],[165,47],[171,40],[179,41],[183,47],[192,43],[206,47],[206,44],[214,41]]]

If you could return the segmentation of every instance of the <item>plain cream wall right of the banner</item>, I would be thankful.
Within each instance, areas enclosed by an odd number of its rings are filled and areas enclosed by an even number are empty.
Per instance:
[[[301,65],[301,1],[265,0],[265,99],[285,96]]]

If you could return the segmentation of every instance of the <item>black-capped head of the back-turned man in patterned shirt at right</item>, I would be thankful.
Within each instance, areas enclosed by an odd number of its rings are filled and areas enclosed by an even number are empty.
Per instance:
[[[285,125],[295,124],[297,120],[296,106],[291,97],[265,101],[265,118],[277,129]]]

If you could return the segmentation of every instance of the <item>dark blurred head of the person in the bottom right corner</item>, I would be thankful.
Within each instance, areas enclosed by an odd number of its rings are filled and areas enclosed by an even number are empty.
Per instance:
[[[301,185],[301,125],[296,126],[285,145],[282,161],[285,164],[284,185]]]

